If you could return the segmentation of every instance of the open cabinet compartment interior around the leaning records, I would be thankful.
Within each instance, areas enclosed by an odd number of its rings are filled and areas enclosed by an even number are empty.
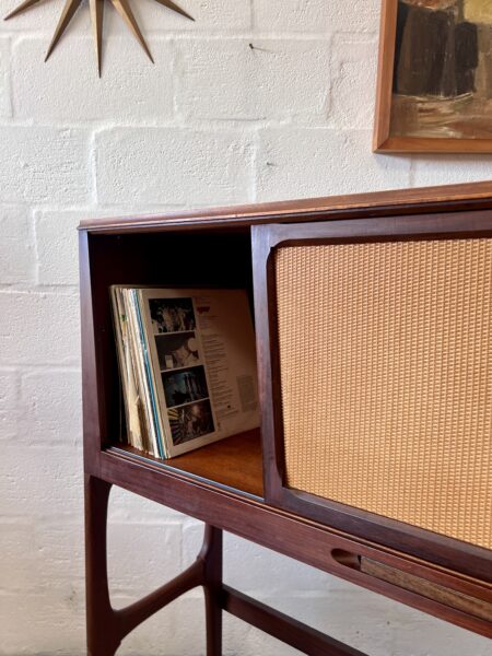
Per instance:
[[[119,452],[155,467],[184,471],[239,492],[262,496],[259,429],[215,442],[168,460],[121,442],[125,411],[113,325],[109,288],[245,289],[253,317],[250,231],[81,233],[81,253],[90,270],[97,405],[101,433],[94,448]]]

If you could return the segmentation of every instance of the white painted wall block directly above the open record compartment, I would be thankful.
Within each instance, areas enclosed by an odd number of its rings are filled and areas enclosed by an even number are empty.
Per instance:
[[[95,134],[101,203],[230,203],[254,180],[249,136],[230,129],[114,128]],[[121,210],[119,210],[121,211]]]

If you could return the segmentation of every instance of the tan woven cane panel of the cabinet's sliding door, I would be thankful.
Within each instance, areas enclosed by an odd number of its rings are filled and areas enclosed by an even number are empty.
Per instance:
[[[490,550],[492,236],[398,225],[270,229],[282,485]]]

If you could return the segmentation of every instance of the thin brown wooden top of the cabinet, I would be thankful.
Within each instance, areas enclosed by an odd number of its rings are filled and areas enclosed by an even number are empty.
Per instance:
[[[206,208],[162,215],[87,219],[80,230],[101,233],[248,227],[255,223],[313,221],[329,218],[371,216],[377,212],[422,213],[492,208],[492,180],[441,187],[375,191],[261,204]]]

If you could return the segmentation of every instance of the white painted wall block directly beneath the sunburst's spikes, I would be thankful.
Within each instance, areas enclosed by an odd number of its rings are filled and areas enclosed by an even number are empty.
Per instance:
[[[61,46],[60,46],[61,48]],[[173,118],[173,48],[169,42],[152,43],[156,66],[142,57],[128,35],[112,38],[105,48],[104,82],[94,74],[92,34],[70,38],[63,50],[44,62],[46,38],[23,38],[13,46],[12,73],[16,80],[14,113],[20,119],[63,125],[108,121],[130,124]],[[26,62],[28,66],[26,67]],[[171,93],[169,93],[171,91]]]

